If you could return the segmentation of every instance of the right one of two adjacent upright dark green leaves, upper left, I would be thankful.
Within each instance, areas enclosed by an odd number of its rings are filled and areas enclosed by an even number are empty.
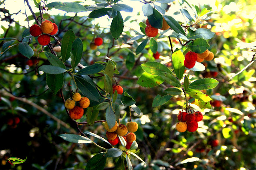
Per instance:
[[[75,67],[77,67],[77,64],[80,62],[83,54],[83,42],[79,38],[77,38],[73,44],[71,52],[73,53],[74,59],[72,59],[72,63]]]

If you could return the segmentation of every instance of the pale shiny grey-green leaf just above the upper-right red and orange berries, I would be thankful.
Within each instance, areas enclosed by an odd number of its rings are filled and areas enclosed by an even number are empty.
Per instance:
[[[187,34],[187,38],[189,40],[191,40],[191,39],[195,40],[197,38],[204,38],[205,40],[209,40],[209,39],[213,38],[214,35],[215,35],[214,32],[211,32],[208,29],[198,28],[196,31],[190,31]]]

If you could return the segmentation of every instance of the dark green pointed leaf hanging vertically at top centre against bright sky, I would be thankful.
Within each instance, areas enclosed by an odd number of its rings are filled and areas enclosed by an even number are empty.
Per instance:
[[[115,40],[117,40],[123,32],[123,18],[119,11],[117,12],[117,16],[115,16],[111,22],[110,32]]]

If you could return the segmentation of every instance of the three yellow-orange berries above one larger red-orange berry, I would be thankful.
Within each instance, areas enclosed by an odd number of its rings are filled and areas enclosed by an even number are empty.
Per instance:
[[[76,101],[79,101],[79,106],[75,106]],[[90,100],[87,97],[81,97],[80,93],[74,93],[72,99],[67,99],[64,105],[69,109],[71,119],[81,119],[84,109],[90,105]]]

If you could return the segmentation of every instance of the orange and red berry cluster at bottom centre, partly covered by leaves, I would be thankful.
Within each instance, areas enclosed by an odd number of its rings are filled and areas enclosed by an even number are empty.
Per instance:
[[[115,126],[110,129],[107,122],[105,122],[104,128],[106,129],[106,137],[109,143],[111,143],[113,146],[118,143],[121,144],[118,136],[123,136],[126,141],[125,148],[130,149],[131,144],[136,140],[136,135],[134,132],[137,131],[138,124],[136,122],[128,122],[126,126],[123,124],[118,126],[117,121],[115,121]]]

